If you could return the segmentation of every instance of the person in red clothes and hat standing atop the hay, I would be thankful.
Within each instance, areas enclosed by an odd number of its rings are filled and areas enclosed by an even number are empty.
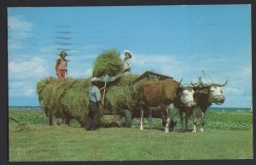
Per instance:
[[[56,61],[55,71],[59,80],[62,80],[65,77],[65,72],[67,74],[67,60],[65,59],[67,56],[67,53],[65,51],[62,51],[60,56],[61,58],[59,58]]]

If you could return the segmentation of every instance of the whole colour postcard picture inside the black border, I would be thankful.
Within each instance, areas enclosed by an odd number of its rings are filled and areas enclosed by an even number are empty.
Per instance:
[[[252,160],[251,10],[7,7],[9,162]]]

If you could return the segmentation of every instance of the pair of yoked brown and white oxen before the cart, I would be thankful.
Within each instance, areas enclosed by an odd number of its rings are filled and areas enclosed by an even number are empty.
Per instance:
[[[161,111],[165,133],[169,132],[169,128],[177,130],[178,116],[183,131],[188,130],[189,118],[192,117],[192,132],[196,132],[198,119],[201,119],[200,130],[204,132],[205,114],[212,103],[217,105],[224,103],[225,98],[221,87],[227,83],[228,80],[224,84],[207,84],[201,81],[201,77],[197,83],[184,86],[173,79],[143,83],[138,88],[138,105],[141,109],[140,129],[143,129],[144,111],[149,112],[149,128],[152,128],[152,111]]]

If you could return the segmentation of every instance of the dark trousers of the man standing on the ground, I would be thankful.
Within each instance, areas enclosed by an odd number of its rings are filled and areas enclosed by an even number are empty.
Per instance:
[[[97,128],[100,128],[100,111],[96,102],[90,100],[85,130],[96,130]]]

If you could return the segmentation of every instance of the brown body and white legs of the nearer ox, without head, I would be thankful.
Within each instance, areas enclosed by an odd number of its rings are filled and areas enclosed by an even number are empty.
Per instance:
[[[181,93],[182,85],[172,79],[143,83],[138,88],[138,104],[141,108],[141,129],[143,129],[143,110],[148,110],[148,106],[160,106],[166,120],[166,117],[168,117],[167,106],[172,103],[174,105],[178,104]],[[165,132],[169,132],[167,124]]]

